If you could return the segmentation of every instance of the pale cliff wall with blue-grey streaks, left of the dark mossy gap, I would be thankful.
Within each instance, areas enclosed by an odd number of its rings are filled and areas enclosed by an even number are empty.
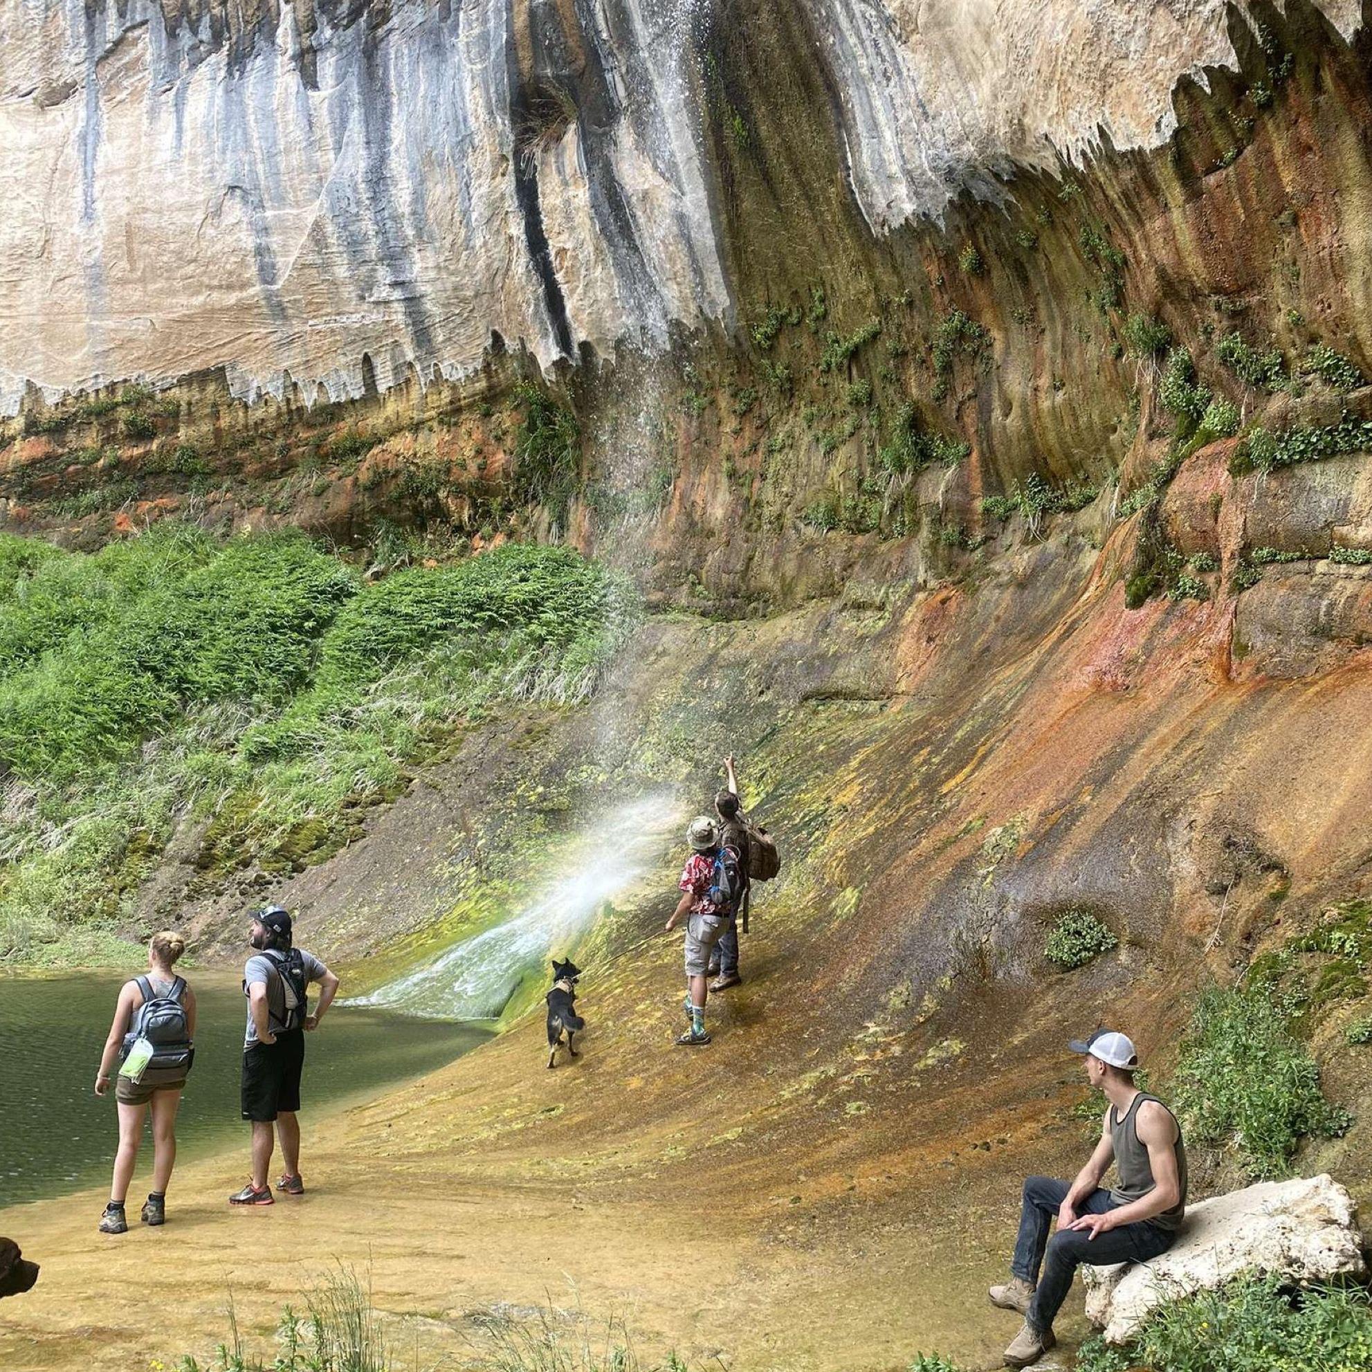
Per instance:
[[[665,342],[729,292],[672,5],[598,36],[622,104],[605,136],[627,206],[606,237],[573,123],[538,192],[575,343]],[[493,331],[547,365],[554,321],[525,239],[509,0],[398,0],[331,29],[302,73],[289,4],[235,51],[148,0],[0,0],[0,401],[226,366],[240,394],[359,394],[480,362]],[[665,11],[665,16],[664,16]],[[631,239],[637,236],[637,246]]]

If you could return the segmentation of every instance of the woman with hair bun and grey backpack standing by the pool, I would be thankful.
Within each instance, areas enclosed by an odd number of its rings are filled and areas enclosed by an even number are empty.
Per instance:
[[[176,1162],[176,1113],[195,1056],[195,992],[172,969],[185,952],[185,940],[172,930],[152,936],[148,970],[119,988],[110,1037],[100,1058],[95,1093],[103,1096],[121,1063],[114,1099],[119,1110],[119,1150],[114,1155],[110,1203],[100,1217],[102,1233],[123,1233],[123,1199],[133,1180],[143,1142],[143,1121],[152,1110],[152,1191],[143,1222],[166,1222],[166,1191]]]

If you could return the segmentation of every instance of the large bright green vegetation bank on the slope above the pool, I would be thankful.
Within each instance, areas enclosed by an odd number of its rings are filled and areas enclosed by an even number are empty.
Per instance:
[[[583,700],[635,605],[558,547],[366,583],[299,534],[0,541],[0,960],[125,916],[188,816],[209,871],[320,860],[491,702]]]

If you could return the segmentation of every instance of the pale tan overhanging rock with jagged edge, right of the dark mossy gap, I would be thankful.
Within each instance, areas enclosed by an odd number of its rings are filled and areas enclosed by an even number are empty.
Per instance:
[[[877,229],[996,198],[1011,162],[1054,166],[1104,129],[1118,148],[1173,129],[1176,81],[1232,66],[1225,0],[805,0],[830,69],[853,192]],[[1324,12],[1345,36],[1357,0]]]

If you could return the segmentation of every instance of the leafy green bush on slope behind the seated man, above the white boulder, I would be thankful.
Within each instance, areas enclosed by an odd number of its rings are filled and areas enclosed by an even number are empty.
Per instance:
[[[1253,1177],[1283,1176],[1302,1137],[1338,1137],[1351,1124],[1325,1100],[1314,1059],[1257,986],[1200,996],[1173,1096],[1188,1142],[1233,1150]]]

